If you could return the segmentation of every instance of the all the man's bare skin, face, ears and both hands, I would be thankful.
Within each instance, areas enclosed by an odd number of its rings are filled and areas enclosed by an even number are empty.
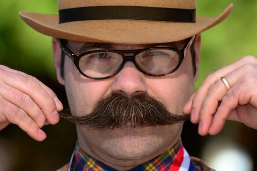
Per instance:
[[[192,75],[189,52],[173,74],[164,77],[146,76],[128,62],[115,77],[106,80],[83,77],[67,58],[63,79],[60,75],[61,49],[58,39],[53,38],[52,44],[57,78],[65,85],[73,114],[90,112],[94,102],[107,93],[127,96],[149,93],[171,112],[178,115],[182,115],[182,111],[184,114],[191,114],[191,122],[199,123],[200,135],[219,133],[225,120],[242,122],[257,129],[257,59],[253,56],[245,56],[211,73],[197,92],[193,93],[194,82],[198,78],[201,45],[199,35],[195,46],[195,76]],[[71,41],[69,45],[72,46]],[[139,45],[117,45],[117,49],[124,50],[139,48]],[[225,88],[220,79],[222,76],[231,89]],[[56,124],[59,121],[56,111],[61,111],[62,108],[54,92],[38,79],[0,65],[0,130],[9,123],[17,124],[33,139],[42,141],[46,134],[40,128],[46,124]],[[182,125],[124,131],[89,131],[77,127],[77,133],[80,146],[88,154],[117,170],[128,170],[173,146],[181,135]]]

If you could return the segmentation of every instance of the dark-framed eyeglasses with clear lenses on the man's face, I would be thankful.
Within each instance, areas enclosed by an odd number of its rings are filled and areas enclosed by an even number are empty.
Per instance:
[[[173,73],[181,65],[195,36],[188,39],[182,49],[153,47],[137,50],[93,50],[75,55],[60,39],[60,47],[87,78],[106,79],[116,75],[126,62],[131,61],[142,73],[164,76]],[[125,54],[132,54],[125,56]]]

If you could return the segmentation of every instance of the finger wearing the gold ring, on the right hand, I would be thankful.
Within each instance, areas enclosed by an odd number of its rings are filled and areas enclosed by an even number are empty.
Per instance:
[[[235,71],[225,75],[225,79],[229,83],[230,87],[233,87],[238,80],[247,74],[249,71],[257,71],[257,66],[255,65],[244,65]],[[200,130],[201,135],[206,135],[208,133],[211,120],[213,115],[218,107],[219,101],[225,96],[226,93],[229,93],[228,90],[225,88],[224,83],[221,79],[218,79],[214,84],[210,85],[208,89],[207,95],[204,97],[204,100],[200,106],[199,115],[195,116],[195,119],[199,117],[199,121],[202,122],[202,129]]]

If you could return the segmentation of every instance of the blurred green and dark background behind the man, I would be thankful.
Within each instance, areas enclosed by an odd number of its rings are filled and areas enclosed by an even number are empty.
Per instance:
[[[199,0],[197,15],[217,16],[230,2],[234,3],[231,16],[222,24],[202,33],[200,74],[196,89],[212,71],[243,56],[257,56],[256,0]],[[37,77],[54,90],[67,109],[65,89],[58,84],[54,71],[51,38],[28,27],[18,15],[21,10],[58,13],[55,0],[1,1],[0,64]],[[76,142],[75,126],[61,120],[56,126],[45,126],[43,130],[48,136],[43,142],[32,140],[14,125],[0,131],[0,171],[3,168],[56,170],[67,163]],[[201,137],[197,134],[197,125],[187,122],[182,140],[190,155],[206,160],[205,149],[210,142],[232,142],[246,151],[252,159],[253,170],[257,170],[256,132],[242,124],[227,122],[217,136]]]

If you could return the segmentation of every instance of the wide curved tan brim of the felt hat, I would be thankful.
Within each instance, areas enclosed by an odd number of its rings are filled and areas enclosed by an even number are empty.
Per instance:
[[[26,24],[44,35],[83,42],[128,44],[162,43],[182,40],[225,20],[233,4],[218,17],[196,17],[196,23],[145,20],[87,20],[59,24],[59,15],[19,14]]]

